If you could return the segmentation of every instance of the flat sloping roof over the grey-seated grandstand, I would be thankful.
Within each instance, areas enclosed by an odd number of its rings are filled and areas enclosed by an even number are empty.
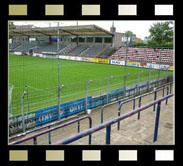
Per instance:
[[[96,25],[61,26],[59,27],[62,36],[88,36],[88,35],[112,35],[111,32]],[[57,36],[58,27],[12,29],[10,36]]]

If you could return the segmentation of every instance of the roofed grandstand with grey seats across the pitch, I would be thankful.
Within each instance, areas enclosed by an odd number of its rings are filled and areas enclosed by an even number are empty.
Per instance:
[[[113,35],[96,25],[60,27],[59,54],[68,56],[96,57],[111,48]],[[11,51],[28,53],[52,52],[57,50],[57,28],[28,28],[10,31]],[[26,36],[26,37],[25,37]],[[47,36],[43,38],[43,36]],[[81,37],[80,37],[81,36]],[[30,42],[30,38],[35,38]]]

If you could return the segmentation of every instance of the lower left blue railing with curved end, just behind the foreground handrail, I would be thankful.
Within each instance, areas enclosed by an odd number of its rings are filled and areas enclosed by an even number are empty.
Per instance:
[[[89,128],[91,128],[91,127],[92,127],[92,119],[91,119],[91,117],[90,117],[89,115],[86,115],[86,116],[80,117],[80,118],[78,118],[78,119],[75,119],[75,120],[66,122],[66,123],[64,123],[64,124],[61,124],[61,125],[59,125],[59,126],[56,126],[56,127],[50,128],[50,129],[46,129],[46,130],[41,131],[41,132],[39,132],[39,133],[33,134],[33,135],[31,135],[31,136],[28,136],[28,137],[19,139],[19,140],[14,141],[14,142],[11,142],[9,145],[19,144],[19,143],[28,141],[28,140],[30,140],[30,139],[33,139],[34,145],[37,145],[37,137],[38,137],[38,136],[41,136],[41,135],[43,135],[43,134],[46,134],[46,133],[49,134],[49,144],[51,144],[51,134],[50,134],[51,131],[54,131],[54,130],[63,128],[63,127],[65,127],[65,126],[71,125],[71,124],[73,124],[73,123],[75,123],[75,122],[78,122],[78,121],[81,121],[81,120],[84,120],[84,119],[89,119]],[[90,144],[90,143],[91,143],[91,135],[89,135],[89,144]]]

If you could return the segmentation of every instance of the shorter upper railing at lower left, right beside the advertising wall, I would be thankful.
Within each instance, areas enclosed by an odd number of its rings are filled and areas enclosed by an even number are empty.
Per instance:
[[[41,126],[41,127],[34,128],[33,130],[26,131],[26,132],[24,132],[24,133],[21,133],[21,134],[18,134],[18,135],[9,137],[9,140],[12,140],[12,139],[15,139],[15,138],[19,138],[19,137],[21,137],[21,136],[25,136],[25,135],[27,135],[27,134],[30,134],[30,133],[33,133],[33,132],[35,132],[35,131],[39,131],[39,130],[45,129],[45,128],[47,128],[47,127],[50,128],[50,127],[53,126],[53,125],[57,125],[57,124],[59,124],[59,123],[62,123],[62,122],[65,122],[65,121],[68,121],[68,120],[71,120],[71,119],[74,119],[74,118],[79,118],[79,116],[78,116],[78,115],[74,115],[74,116],[68,117],[68,118],[66,118],[66,119],[59,120],[59,121],[57,121],[57,122],[52,122],[52,123],[47,124],[47,125],[45,125],[45,126]],[[80,131],[80,125],[79,125],[79,121],[78,121],[78,133],[79,133],[79,131]]]

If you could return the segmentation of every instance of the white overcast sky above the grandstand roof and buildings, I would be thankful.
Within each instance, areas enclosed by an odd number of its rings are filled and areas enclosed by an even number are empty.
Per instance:
[[[164,21],[114,21],[114,26],[116,27],[116,32],[132,31],[136,34],[136,37],[144,39],[144,37],[149,36],[149,28],[156,22]],[[49,27],[57,26],[58,21],[15,21],[15,25],[35,25],[37,27]],[[60,26],[73,26],[77,25],[77,21],[59,21]],[[78,21],[78,25],[98,25],[106,30],[110,30],[112,26],[111,21]]]

